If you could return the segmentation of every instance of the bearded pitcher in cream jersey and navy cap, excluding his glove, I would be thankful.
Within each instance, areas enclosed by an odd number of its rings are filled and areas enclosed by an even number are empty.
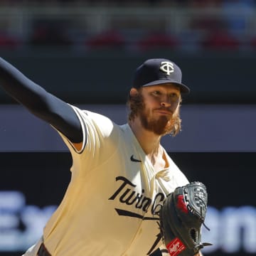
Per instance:
[[[63,201],[24,255],[164,255],[161,203],[188,183],[161,146],[161,137],[181,129],[181,95],[189,88],[180,68],[167,59],[140,65],[123,125],[63,102],[2,58],[0,85],[48,122],[73,157]]]

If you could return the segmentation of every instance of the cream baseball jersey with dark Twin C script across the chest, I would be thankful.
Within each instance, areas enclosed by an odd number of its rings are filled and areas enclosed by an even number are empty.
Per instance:
[[[54,256],[138,256],[159,247],[157,213],[166,194],[188,183],[166,154],[156,172],[128,124],[73,107],[84,133],[73,157],[63,201],[48,220],[43,240]]]

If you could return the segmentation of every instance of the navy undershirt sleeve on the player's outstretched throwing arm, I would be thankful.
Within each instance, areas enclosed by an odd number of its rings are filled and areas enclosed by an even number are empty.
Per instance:
[[[36,117],[58,129],[70,142],[82,142],[82,127],[73,108],[28,79],[3,58],[0,58],[0,85]]]

